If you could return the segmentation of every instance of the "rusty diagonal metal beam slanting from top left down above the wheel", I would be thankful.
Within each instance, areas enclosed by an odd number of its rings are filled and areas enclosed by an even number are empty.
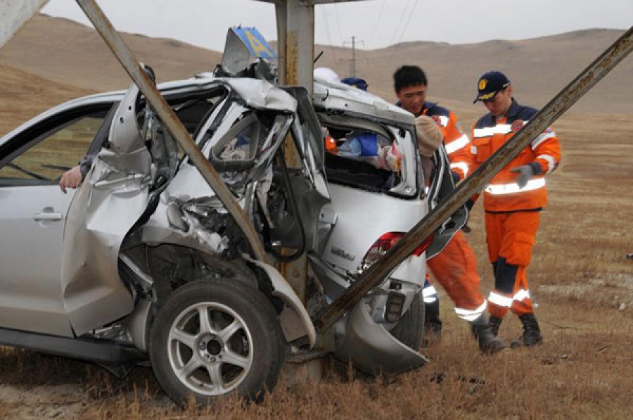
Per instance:
[[[167,128],[167,131],[178,141],[178,144],[183,148],[186,155],[196,167],[198,167],[200,174],[203,175],[206,182],[217,194],[219,200],[222,201],[226,210],[229,211],[229,214],[242,230],[242,233],[248,241],[253,256],[257,260],[264,261],[264,248],[260,238],[257,236],[257,232],[252,227],[252,224],[250,224],[245,212],[236,201],[233,193],[226,187],[226,184],[224,184],[222,178],[219,177],[217,171],[205,158],[205,155],[203,155],[193,139],[191,139],[191,136],[177,115],[167,101],[165,101],[165,98],[160,95],[158,89],[156,89],[155,84],[145,72],[143,72],[139,61],[136,60],[132,51],[129,50],[120,34],[118,34],[110,23],[110,20],[108,20],[103,11],[101,11],[101,8],[99,8],[95,0],[77,0],[77,4],[79,4],[79,7],[86,13],[97,32],[101,35],[106,44],[108,44],[108,47],[117,57],[129,77],[132,77],[134,83],[141,89],[141,92],[143,92],[143,95],[145,95],[147,101],[160,118],[160,121],[165,125],[165,128]]]

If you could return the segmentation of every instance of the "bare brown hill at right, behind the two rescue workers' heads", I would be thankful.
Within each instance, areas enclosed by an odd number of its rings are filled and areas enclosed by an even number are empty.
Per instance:
[[[392,73],[402,64],[419,65],[429,78],[434,100],[458,101],[471,106],[476,81],[488,70],[501,70],[511,79],[519,101],[544,106],[581,70],[599,56],[623,31],[582,30],[523,41],[490,41],[450,45],[409,42],[387,49],[357,51],[357,73],[370,89],[394,99]],[[319,65],[349,72],[349,50],[323,47]],[[633,112],[633,57],[629,56],[572,109],[581,113]]]

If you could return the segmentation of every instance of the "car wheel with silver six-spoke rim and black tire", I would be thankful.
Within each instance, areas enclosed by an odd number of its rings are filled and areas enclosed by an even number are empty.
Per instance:
[[[149,354],[172,400],[212,404],[225,395],[258,400],[272,390],[286,348],[274,307],[257,288],[205,279],[165,299],[151,327]]]

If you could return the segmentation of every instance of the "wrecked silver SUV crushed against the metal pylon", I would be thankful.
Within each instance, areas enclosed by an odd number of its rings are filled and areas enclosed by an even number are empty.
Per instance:
[[[149,361],[177,402],[257,398],[290,350],[316,345],[310,316],[452,188],[447,160],[438,151],[426,179],[413,117],[345,85],[317,81],[314,106],[305,89],[211,74],[160,91],[269,261],[248,257],[240,229],[134,84],[80,98],[0,139],[0,343],[118,376]],[[380,136],[397,146],[397,170],[326,153],[324,129]],[[301,167],[284,164],[285,141]],[[56,180],[86,153],[96,157],[84,182],[62,193]],[[447,222],[427,252],[456,227]],[[426,362],[416,350],[428,245],[335,324],[328,350],[368,372]],[[307,305],[276,269],[304,253]]]

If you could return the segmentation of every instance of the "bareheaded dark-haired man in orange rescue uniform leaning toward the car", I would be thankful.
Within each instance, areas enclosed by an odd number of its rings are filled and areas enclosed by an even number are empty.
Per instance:
[[[445,147],[452,152],[451,166],[461,172],[461,177],[468,174],[467,158],[469,151],[468,136],[460,129],[459,121],[452,111],[436,103],[426,101],[427,79],[421,68],[405,65],[393,75],[395,93],[399,98],[399,106],[416,116],[418,143],[425,136],[425,118],[431,117],[440,128]],[[424,150],[418,147],[421,155],[427,158],[435,150]],[[430,152],[426,154],[425,152]],[[466,158],[464,158],[466,156]],[[473,332],[479,340],[480,349],[484,352],[497,352],[505,347],[503,341],[495,340],[492,329],[485,314],[486,300],[479,291],[480,277],[477,272],[477,262],[471,246],[461,230],[447,246],[435,257],[427,262],[435,279],[445,288],[455,304],[458,317],[471,322]],[[440,302],[430,284],[423,289],[426,312],[425,327],[428,332],[439,336],[442,329],[440,321]]]

